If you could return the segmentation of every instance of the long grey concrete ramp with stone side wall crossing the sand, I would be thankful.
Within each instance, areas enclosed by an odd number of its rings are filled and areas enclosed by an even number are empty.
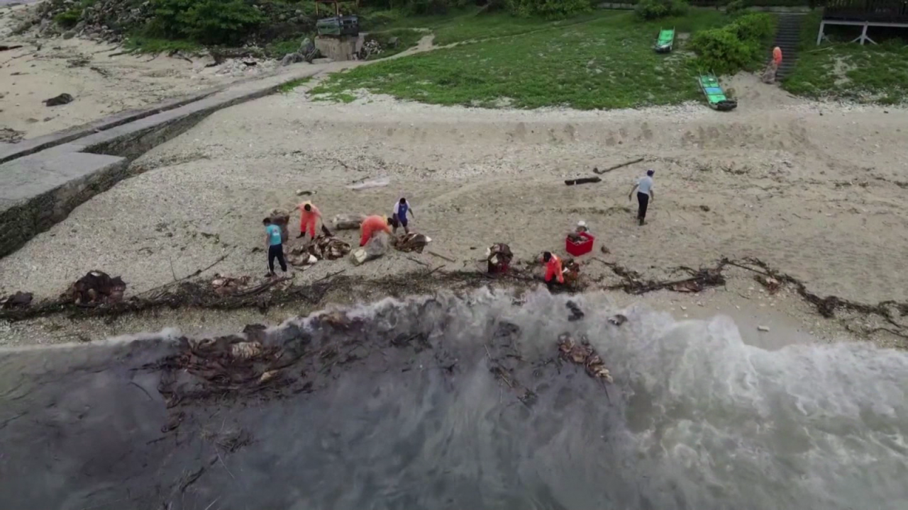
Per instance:
[[[143,112],[120,113],[0,148],[0,257],[63,221],[94,195],[141,172],[131,168],[130,162],[209,114],[275,93],[284,83],[326,70],[301,64],[219,92],[173,100]]]

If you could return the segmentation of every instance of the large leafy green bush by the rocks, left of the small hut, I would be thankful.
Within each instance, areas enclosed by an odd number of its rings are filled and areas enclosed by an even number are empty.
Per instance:
[[[155,31],[202,44],[237,43],[264,21],[243,0],[152,0],[152,5]]]

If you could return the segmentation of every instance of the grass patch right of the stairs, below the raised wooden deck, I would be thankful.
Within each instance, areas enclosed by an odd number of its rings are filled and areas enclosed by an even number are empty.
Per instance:
[[[908,101],[908,45],[825,43],[816,46],[820,14],[809,15],[802,51],[783,87],[790,93],[862,103]]]

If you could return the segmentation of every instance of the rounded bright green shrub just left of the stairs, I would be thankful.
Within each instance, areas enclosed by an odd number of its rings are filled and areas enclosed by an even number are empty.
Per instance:
[[[752,67],[764,59],[774,25],[771,15],[755,13],[721,28],[697,32],[691,39],[697,64],[718,74],[735,74]]]

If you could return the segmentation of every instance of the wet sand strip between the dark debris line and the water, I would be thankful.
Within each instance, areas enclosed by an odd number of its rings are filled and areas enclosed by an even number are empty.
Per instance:
[[[793,344],[838,341],[869,341],[882,348],[905,347],[901,338],[866,333],[866,329],[882,322],[879,317],[862,317],[860,314],[840,311],[833,319],[824,319],[814,305],[799,296],[792,287],[783,286],[775,294],[771,294],[751,278],[752,274],[745,270],[730,270],[725,275],[723,287],[707,288],[696,293],[662,289],[632,295],[621,290],[601,289],[591,285],[580,294],[603,294],[619,308],[642,306],[670,314],[676,321],[709,320],[726,316],[735,322],[746,344],[768,350]],[[419,278],[419,275],[420,273],[412,273],[410,278]],[[331,286],[330,280],[328,286]],[[254,307],[206,309],[186,305],[174,309],[158,306],[94,317],[76,317],[72,315],[72,310],[61,311],[6,322],[0,327],[0,348],[93,345],[111,338],[153,334],[164,329],[178,332],[178,336],[213,338],[236,334],[251,324],[276,327],[289,319],[300,319],[321,310],[368,305],[389,297],[406,299],[438,292],[461,294],[485,287],[520,296],[541,285],[526,282],[515,285],[513,281],[489,280],[488,286],[480,284],[458,288],[456,284],[439,285],[429,280],[420,286],[421,289],[428,290],[414,292],[402,289],[393,294],[383,294],[375,289],[366,290],[368,287],[367,283],[352,290],[346,287],[329,289],[316,302],[306,299],[279,301],[263,310]],[[864,320],[864,331],[849,327],[857,319]]]

